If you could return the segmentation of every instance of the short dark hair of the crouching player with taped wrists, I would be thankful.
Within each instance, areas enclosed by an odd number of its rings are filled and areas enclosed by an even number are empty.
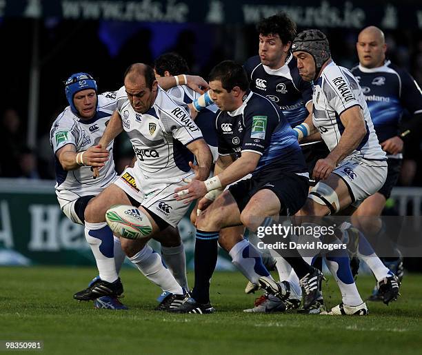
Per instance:
[[[239,86],[243,91],[249,89],[248,74],[241,64],[234,61],[222,61],[215,65],[209,79],[221,81],[221,86],[228,92],[232,91],[234,86]]]

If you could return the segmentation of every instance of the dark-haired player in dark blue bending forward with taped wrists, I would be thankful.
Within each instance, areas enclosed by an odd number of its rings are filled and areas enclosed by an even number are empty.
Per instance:
[[[266,217],[294,214],[305,202],[308,172],[294,132],[279,107],[251,92],[248,86],[244,69],[232,61],[221,62],[210,73],[210,96],[220,109],[216,121],[219,159],[214,176],[205,182],[192,181],[175,191],[177,199],[186,203],[208,192],[219,196],[214,202],[208,199],[209,195],[199,201],[199,210],[203,212],[197,218],[195,285],[192,296],[172,312],[214,312],[210,304],[210,278],[217,262],[219,231],[223,227],[243,224],[256,231]],[[250,173],[250,179],[239,181]],[[234,185],[221,193],[231,183]],[[250,254],[256,256],[248,242],[243,244],[241,254],[248,258]],[[248,268],[261,274],[263,280],[272,280],[261,258],[254,259]],[[290,259],[303,280],[319,278],[319,271],[300,256]],[[277,285],[282,296],[288,298],[290,285]]]

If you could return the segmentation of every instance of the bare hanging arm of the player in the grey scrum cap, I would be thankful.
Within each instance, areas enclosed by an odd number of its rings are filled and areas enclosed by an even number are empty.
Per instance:
[[[345,129],[341,134],[339,144],[325,159],[316,162],[314,179],[327,179],[332,170],[336,168],[337,163],[353,152],[366,134],[365,119],[359,105],[345,110],[340,115],[340,119]]]

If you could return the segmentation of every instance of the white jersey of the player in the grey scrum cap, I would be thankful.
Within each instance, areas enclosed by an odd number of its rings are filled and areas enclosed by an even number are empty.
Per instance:
[[[379,145],[361,87],[348,69],[334,62],[328,64],[321,77],[314,82],[312,101],[314,104],[312,121],[321,132],[321,137],[330,151],[339,143],[345,129],[340,115],[348,108],[359,105],[363,110],[366,134],[350,156],[374,160],[386,159],[385,152]]]

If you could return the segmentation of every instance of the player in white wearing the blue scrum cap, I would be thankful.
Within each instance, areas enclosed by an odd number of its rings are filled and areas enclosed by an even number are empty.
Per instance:
[[[117,178],[114,161],[110,158],[113,141],[106,148],[99,145],[116,108],[117,92],[97,94],[96,81],[90,74],[81,72],[72,74],[66,81],[66,99],[69,106],[59,114],[50,132],[56,160],[56,194],[63,213],[72,222],[85,225],[85,236],[99,270],[99,276],[88,287],[90,292],[77,292],[74,298],[79,301],[95,299],[96,307],[122,309],[124,306],[116,298],[123,292],[118,275],[125,259],[119,238],[112,236],[107,225],[98,228],[86,223],[84,218],[91,199]],[[101,176],[97,179],[92,179],[92,167],[101,168]],[[166,234],[171,234],[172,239],[178,238],[170,228]],[[151,251],[149,246],[145,248]],[[143,274],[153,282],[157,280],[150,276],[153,275],[150,265],[157,256],[154,254],[139,263]],[[164,292],[168,290],[167,285],[177,285],[161,260],[156,265],[154,272],[170,280],[163,284]]]

